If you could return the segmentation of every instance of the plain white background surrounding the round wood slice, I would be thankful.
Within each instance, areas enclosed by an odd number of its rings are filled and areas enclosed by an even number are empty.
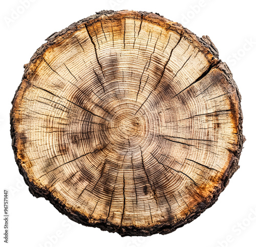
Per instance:
[[[4,189],[9,190],[10,215],[8,244],[3,239],[4,220],[0,224],[1,246],[256,246],[254,1],[27,1],[26,8],[19,0],[1,1],[0,8],[1,196],[4,197]],[[229,65],[242,94],[243,128],[247,141],[240,159],[241,168],[214,206],[192,223],[167,235],[122,238],[117,233],[73,223],[48,201],[30,194],[14,160],[9,112],[23,76],[23,65],[53,32],[96,11],[109,9],[157,12],[180,22],[199,37],[208,35],[217,46],[220,59]],[[14,12],[19,13],[15,15]],[[0,212],[4,215],[3,206]]]

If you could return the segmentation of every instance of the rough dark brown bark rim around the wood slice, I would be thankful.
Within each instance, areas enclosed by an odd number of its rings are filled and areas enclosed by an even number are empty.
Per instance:
[[[90,21],[94,18],[98,18],[102,15],[110,15],[110,14],[115,14],[115,13],[116,13],[116,11],[113,11],[113,10],[109,10],[109,11],[103,10],[103,11],[100,11],[100,12],[96,12],[95,15],[89,16],[85,19],[82,19],[78,22],[75,22],[75,23],[71,24],[68,28],[63,29],[62,31],[60,31],[58,33],[56,32],[56,33],[53,33],[52,35],[50,35],[46,39],[47,43],[41,45],[41,47],[39,47],[37,49],[37,51],[34,53],[34,55],[32,56],[30,62],[28,64],[24,65],[25,71],[24,71],[22,81],[28,80],[30,74],[33,74],[34,70],[33,71],[30,70],[30,65],[32,65],[34,62],[36,62],[38,60],[38,58],[40,58],[40,56],[47,50],[47,48],[49,48],[51,45],[54,44],[54,41],[58,37],[62,37],[63,35],[65,35],[69,32],[70,32],[70,34],[74,33],[75,31],[79,30],[78,26],[80,26],[84,22],[88,22],[88,21]],[[148,12],[141,12],[141,11],[138,12],[138,13],[140,13],[142,16],[147,16],[147,15],[153,14],[152,12],[148,13]],[[156,15],[160,16],[158,13],[156,13]],[[160,16],[160,18],[163,18],[163,16]],[[209,51],[210,54],[212,54],[215,58],[219,59],[218,50],[217,50],[216,46],[211,42],[211,40],[209,39],[208,36],[203,36],[202,38],[199,38],[194,33],[192,33],[189,30],[183,28],[181,26],[181,24],[177,23],[177,26],[179,26],[181,29],[183,29],[188,34],[196,37],[198,42],[203,44],[203,46],[205,46],[207,48],[207,50]],[[68,38],[68,37],[64,37],[63,39],[66,39],[66,38]],[[229,84],[233,88],[236,89],[237,96],[238,96],[238,99],[239,99],[239,103],[238,103],[238,105],[239,105],[238,150],[237,150],[237,152],[233,153],[233,156],[232,156],[231,161],[229,163],[229,168],[227,168],[227,171],[226,171],[226,173],[225,173],[225,175],[222,179],[221,186],[216,187],[214,193],[212,193],[212,198],[210,199],[209,202],[205,201],[205,202],[199,203],[197,205],[197,209],[192,214],[189,214],[186,218],[184,218],[183,220],[180,220],[175,225],[171,225],[170,223],[163,223],[163,224],[156,225],[152,228],[137,228],[135,226],[118,227],[114,224],[106,222],[105,220],[99,220],[97,223],[89,223],[89,218],[88,217],[86,217],[84,215],[81,215],[78,212],[72,211],[66,205],[64,205],[59,199],[57,199],[55,196],[53,196],[47,190],[47,188],[38,188],[33,182],[31,182],[29,180],[27,172],[22,167],[22,160],[18,159],[18,157],[17,157],[17,146],[16,146],[17,136],[16,136],[16,131],[15,131],[15,118],[14,118],[15,113],[14,113],[14,110],[12,108],[11,112],[10,112],[10,124],[11,124],[10,132],[11,132],[11,138],[12,138],[12,149],[13,149],[13,152],[14,152],[15,161],[18,165],[19,172],[24,177],[25,183],[28,185],[30,193],[33,196],[37,197],[37,198],[38,197],[44,197],[46,200],[50,201],[50,203],[61,214],[67,215],[71,220],[73,220],[73,221],[75,221],[75,222],[77,222],[81,225],[90,226],[90,227],[97,227],[97,228],[100,228],[102,231],[117,232],[122,237],[123,236],[150,236],[150,235],[153,235],[153,234],[156,234],[156,233],[167,234],[167,233],[175,231],[176,229],[184,226],[187,223],[190,223],[191,221],[193,221],[194,219],[199,217],[202,212],[204,212],[207,208],[210,208],[212,205],[214,205],[214,203],[218,200],[218,197],[219,197],[220,193],[228,185],[229,179],[233,176],[234,172],[236,172],[237,169],[239,168],[238,162],[239,162],[239,158],[240,158],[240,155],[241,155],[241,152],[242,152],[242,149],[243,149],[243,143],[245,141],[245,137],[242,134],[243,114],[242,114],[242,110],[241,110],[241,95],[240,95],[240,92],[238,90],[238,87],[237,87],[236,83],[232,79],[232,73],[229,70],[226,63],[223,63],[219,60],[219,66],[218,67],[223,71],[223,74],[224,74],[226,80],[229,82]],[[20,85],[18,86],[18,88],[15,92],[14,98],[12,100],[12,104],[15,102],[18,90],[19,90],[21,85],[22,85],[22,83],[20,83]]]

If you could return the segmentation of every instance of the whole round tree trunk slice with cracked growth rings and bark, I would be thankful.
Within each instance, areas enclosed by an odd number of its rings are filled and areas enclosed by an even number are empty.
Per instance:
[[[197,218],[238,169],[244,141],[241,96],[218,56],[208,36],[146,12],[101,11],[52,34],[12,102],[30,192],[122,236]]]

